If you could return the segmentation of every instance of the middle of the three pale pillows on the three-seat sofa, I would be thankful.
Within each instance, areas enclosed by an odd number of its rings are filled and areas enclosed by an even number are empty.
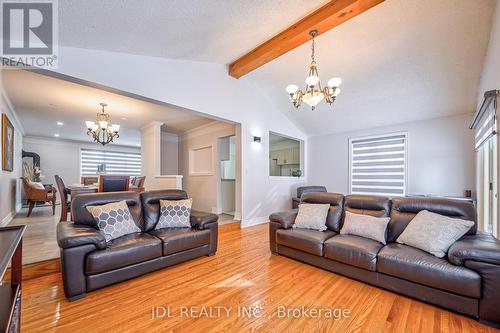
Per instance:
[[[390,220],[390,217],[375,217],[346,211],[340,234],[361,236],[385,244],[385,230]]]

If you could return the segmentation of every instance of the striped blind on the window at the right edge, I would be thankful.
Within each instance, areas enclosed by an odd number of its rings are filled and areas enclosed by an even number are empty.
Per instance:
[[[483,143],[497,133],[497,96],[498,90],[487,91],[483,103],[476,112],[470,126],[474,130],[474,148],[478,150]]]

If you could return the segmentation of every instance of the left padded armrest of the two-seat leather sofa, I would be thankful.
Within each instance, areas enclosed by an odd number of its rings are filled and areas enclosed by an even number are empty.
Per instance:
[[[106,239],[99,230],[91,226],[60,222],[57,225],[57,244],[61,249],[82,245],[95,245],[97,249],[105,249]]]

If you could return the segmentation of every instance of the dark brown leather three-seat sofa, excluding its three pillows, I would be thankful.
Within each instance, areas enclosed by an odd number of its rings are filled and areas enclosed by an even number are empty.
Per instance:
[[[500,325],[500,242],[475,225],[445,258],[396,243],[421,210],[476,221],[472,203],[442,198],[393,198],[305,193],[301,202],[329,203],[324,232],[293,229],[297,210],[270,216],[270,247],[281,254],[384,289]],[[390,217],[387,245],[340,235],[343,213]]]

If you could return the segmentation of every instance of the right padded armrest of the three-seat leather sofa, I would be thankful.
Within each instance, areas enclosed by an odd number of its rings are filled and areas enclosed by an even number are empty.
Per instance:
[[[466,260],[500,265],[500,241],[483,232],[462,237],[449,248],[448,261],[463,266]]]

